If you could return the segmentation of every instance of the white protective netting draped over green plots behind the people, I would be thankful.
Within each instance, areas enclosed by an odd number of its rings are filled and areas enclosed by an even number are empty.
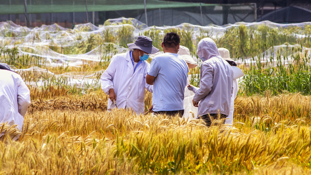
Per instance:
[[[259,60],[263,64],[272,62],[275,66],[280,61],[288,64],[296,55],[310,58],[311,54],[309,49],[311,47],[309,46],[311,45],[311,22],[295,24],[277,24],[269,21],[239,22],[224,26],[198,26],[183,23],[177,26],[148,27],[133,18],[117,18],[107,20],[100,27],[86,23],[76,25],[74,29],[63,28],[56,24],[27,28],[10,21],[0,22],[0,59],[1,62],[11,63],[11,65],[16,65],[15,63],[21,62],[20,59],[22,59],[23,63],[20,64],[24,66],[20,68],[27,67],[28,63],[45,68],[80,67],[90,62],[109,62],[114,54],[127,51],[126,44],[133,42],[138,35],[151,37],[154,40],[154,46],[160,49],[164,34],[172,31],[181,36],[181,45],[190,49],[195,60],[197,60],[197,43],[204,37],[211,37],[219,47],[229,49],[231,57],[239,64],[246,66],[257,64]],[[256,39],[264,41],[264,44],[260,46]],[[271,40],[278,41],[278,43],[269,43]],[[265,43],[274,47],[267,47]],[[302,46],[301,43],[304,45]],[[254,47],[254,44],[258,46]],[[257,50],[252,50],[252,48]],[[20,71],[51,73],[33,68]],[[71,77],[68,85],[81,85],[81,82],[92,81],[94,74],[96,72],[70,72],[57,76]],[[53,76],[55,77],[55,75],[50,75],[50,77]],[[42,83],[44,84],[44,81]]]

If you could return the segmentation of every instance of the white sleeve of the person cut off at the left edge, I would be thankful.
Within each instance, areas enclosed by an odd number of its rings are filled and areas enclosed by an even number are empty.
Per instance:
[[[18,113],[24,117],[30,105],[30,91],[19,75],[17,77],[17,104]]]

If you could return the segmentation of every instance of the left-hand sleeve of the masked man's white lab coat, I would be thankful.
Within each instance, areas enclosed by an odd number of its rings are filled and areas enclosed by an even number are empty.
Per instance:
[[[105,94],[109,95],[109,90],[113,88],[113,78],[117,69],[117,58],[112,57],[108,68],[101,76],[101,86]]]

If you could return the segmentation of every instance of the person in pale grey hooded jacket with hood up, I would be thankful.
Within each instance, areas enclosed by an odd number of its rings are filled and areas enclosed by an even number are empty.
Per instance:
[[[210,118],[221,119],[230,113],[232,95],[232,68],[221,57],[215,42],[204,38],[198,44],[197,55],[203,61],[200,70],[200,88],[190,86],[195,92],[192,103],[198,106],[197,118],[202,118],[207,126],[211,125]],[[200,104],[199,104],[200,102]]]

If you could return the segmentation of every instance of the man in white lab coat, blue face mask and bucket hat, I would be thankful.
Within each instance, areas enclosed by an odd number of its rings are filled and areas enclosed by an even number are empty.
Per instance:
[[[108,110],[114,107],[132,108],[136,113],[145,111],[145,88],[152,92],[153,86],[146,83],[150,64],[149,54],[159,50],[152,45],[152,39],[138,36],[135,43],[127,44],[131,51],[114,55],[108,68],[101,76],[101,86],[109,95]]]

